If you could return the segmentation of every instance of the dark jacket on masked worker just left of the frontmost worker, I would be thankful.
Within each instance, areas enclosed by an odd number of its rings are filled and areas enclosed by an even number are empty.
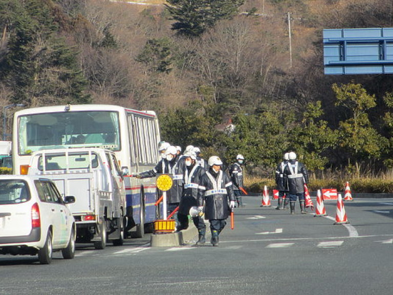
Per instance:
[[[205,170],[197,163],[192,166],[186,166],[183,173],[184,189],[180,199],[179,213],[188,215],[192,206],[198,206],[198,187],[204,174]]]

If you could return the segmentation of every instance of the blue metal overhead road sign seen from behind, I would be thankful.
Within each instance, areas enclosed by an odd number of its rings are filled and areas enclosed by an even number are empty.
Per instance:
[[[326,75],[393,74],[393,28],[323,30]]]

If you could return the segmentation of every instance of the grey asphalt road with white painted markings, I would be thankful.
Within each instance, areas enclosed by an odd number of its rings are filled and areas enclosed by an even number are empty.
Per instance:
[[[219,247],[151,248],[146,236],[104,250],[79,245],[75,259],[56,253],[50,265],[0,256],[0,294],[393,293],[393,199],[345,202],[350,225],[333,224],[335,201],[325,202],[328,217],[244,201]]]

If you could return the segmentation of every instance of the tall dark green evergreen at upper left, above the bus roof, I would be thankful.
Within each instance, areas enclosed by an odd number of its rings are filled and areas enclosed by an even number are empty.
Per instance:
[[[88,103],[87,81],[77,52],[59,37],[50,1],[3,0],[0,24],[9,34],[1,61],[2,79],[13,89],[12,102],[27,106]]]

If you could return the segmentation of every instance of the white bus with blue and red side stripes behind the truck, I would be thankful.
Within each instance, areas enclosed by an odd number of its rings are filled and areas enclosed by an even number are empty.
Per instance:
[[[115,152],[125,172],[126,231],[157,219],[155,179],[129,175],[151,170],[159,161],[160,131],[155,112],[104,104],[25,109],[15,113],[12,130],[13,173],[27,174],[31,153],[74,147],[102,147]],[[152,226],[149,226],[152,228]]]

